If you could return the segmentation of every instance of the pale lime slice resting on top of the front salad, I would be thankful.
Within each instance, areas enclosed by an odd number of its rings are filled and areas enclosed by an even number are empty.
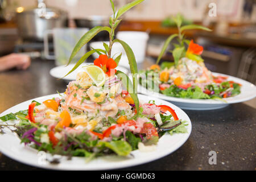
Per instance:
[[[83,68],[97,86],[104,85],[106,75],[100,67],[97,67],[96,65],[89,65]]]

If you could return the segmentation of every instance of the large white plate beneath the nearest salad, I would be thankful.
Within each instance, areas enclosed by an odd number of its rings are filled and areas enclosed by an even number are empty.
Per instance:
[[[59,94],[52,94],[49,96],[43,96],[34,98],[32,100],[36,100],[38,102],[43,102],[49,98],[59,97]],[[147,96],[143,96],[138,94],[139,100],[148,102],[152,100],[152,98],[148,98]],[[28,108],[28,105],[31,104],[32,100],[28,100],[18,104],[10,109],[4,111],[0,116],[15,113],[19,110],[24,110]],[[168,154],[171,154],[179,147],[181,147],[185,141],[188,139],[191,134],[191,121],[187,114],[184,113],[179,107],[171,104],[170,102],[155,99],[155,103],[157,105],[168,105],[172,107],[179,119],[188,122],[187,130],[188,133],[185,134],[174,134],[169,135],[165,134],[163,137],[159,139],[156,150],[151,152],[141,152],[139,150],[132,151],[134,157],[118,157],[118,156],[105,156],[101,158],[97,158],[92,160],[89,163],[85,163],[85,158],[82,157],[73,157],[71,160],[67,160],[66,157],[61,157],[59,164],[50,164],[46,162],[46,164],[42,164],[42,156],[38,154],[34,148],[24,146],[24,144],[20,144],[19,138],[11,133],[9,130],[5,130],[6,134],[0,134],[0,151],[9,156],[10,158],[17,160],[18,162],[25,163],[31,166],[47,168],[47,169],[63,169],[63,170],[101,170],[101,169],[115,169],[115,168],[124,168],[135,166],[147,162],[151,162],[153,160],[163,158]],[[51,155],[47,154],[47,158],[50,158]],[[60,156],[59,156],[60,157]]]

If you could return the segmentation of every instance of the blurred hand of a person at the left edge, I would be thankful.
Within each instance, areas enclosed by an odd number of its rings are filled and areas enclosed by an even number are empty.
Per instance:
[[[0,72],[7,71],[12,68],[27,69],[30,66],[30,56],[20,53],[11,53],[0,57]]]

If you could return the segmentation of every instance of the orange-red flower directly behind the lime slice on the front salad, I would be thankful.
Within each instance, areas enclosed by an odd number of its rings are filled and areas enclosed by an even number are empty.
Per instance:
[[[109,58],[107,55],[100,55],[96,60],[93,61],[94,65],[103,69],[103,71],[108,75],[111,76],[115,72],[117,72],[116,68],[117,63],[112,58]]]

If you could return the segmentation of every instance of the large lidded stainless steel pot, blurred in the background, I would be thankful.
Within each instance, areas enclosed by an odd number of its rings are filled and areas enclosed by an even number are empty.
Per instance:
[[[23,40],[42,41],[44,31],[67,26],[68,13],[55,8],[46,8],[43,1],[35,9],[16,13],[19,36]]]

